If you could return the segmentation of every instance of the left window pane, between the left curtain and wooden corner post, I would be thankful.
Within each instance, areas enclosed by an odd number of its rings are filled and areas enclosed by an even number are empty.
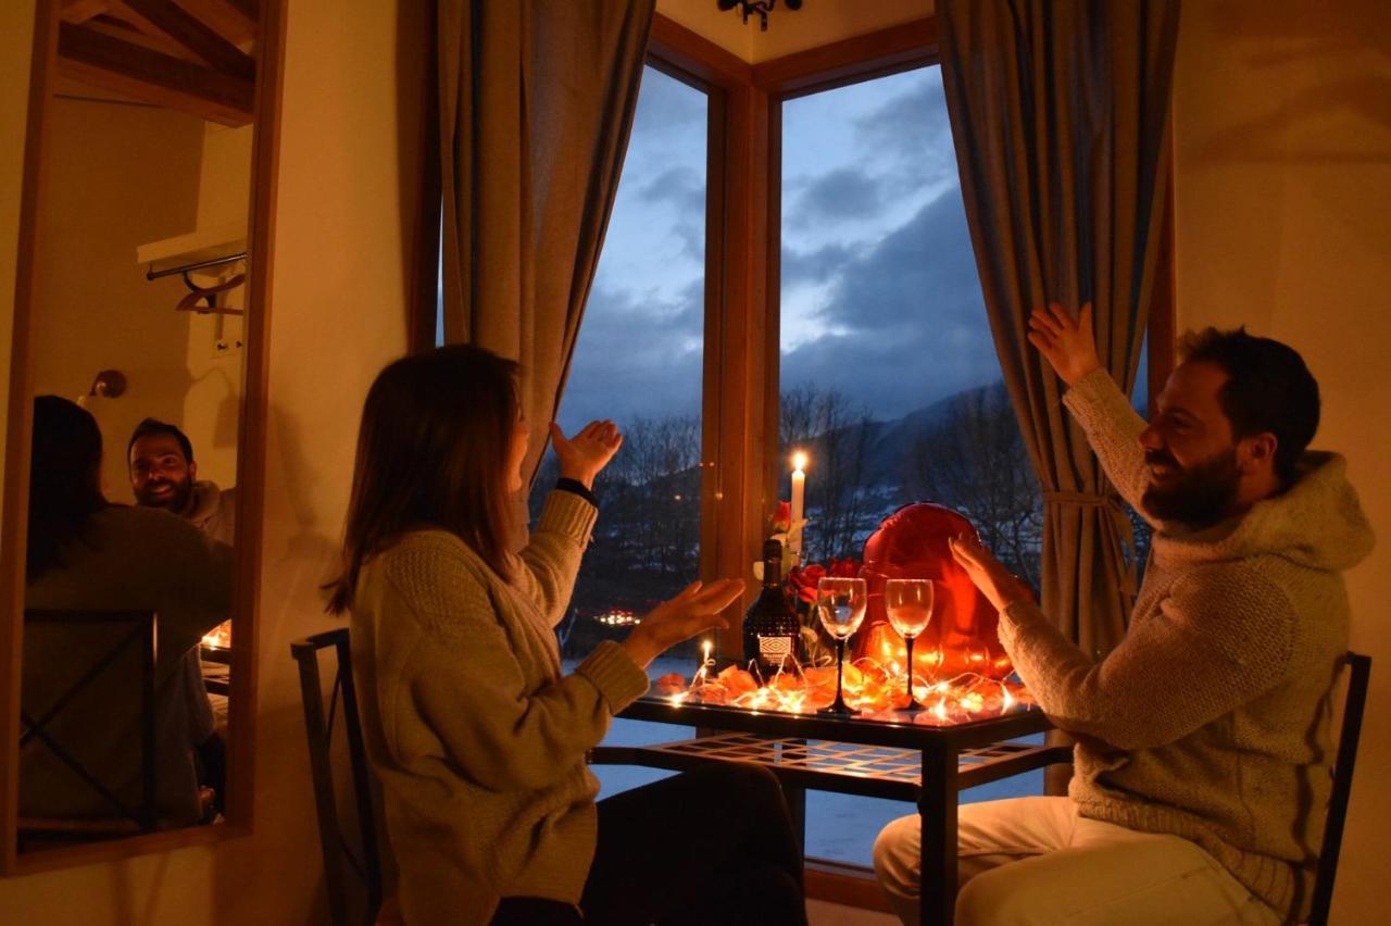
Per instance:
[[[566,434],[613,419],[623,449],[594,491],[602,516],[566,623],[583,658],[700,573],[701,395],[705,352],[705,93],[648,67],[604,252],[561,403]],[[533,517],[555,485],[548,453]],[[691,641],[652,665],[690,676]]]

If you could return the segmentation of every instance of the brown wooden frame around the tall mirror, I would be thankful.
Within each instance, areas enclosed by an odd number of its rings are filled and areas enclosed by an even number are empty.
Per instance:
[[[31,359],[38,217],[45,199],[50,100],[57,76],[61,0],[39,0],[24,149],[24,192],[15,263],[14,342],[6,421],[4,524],[0,526],[0,876],[70,868],[246,836],[253,819],[256,641],[266,469],[267,332],[274,254],[285,1],[259,0],[256,88],[252,101],[252,192],[248,216],[246,368],[236,449],[236,571],[232,612],[227,813],[223,823],[86,843],[32,854],[17,851],[19,679],[24,655],[25,537],[29,441],[33,419]]]

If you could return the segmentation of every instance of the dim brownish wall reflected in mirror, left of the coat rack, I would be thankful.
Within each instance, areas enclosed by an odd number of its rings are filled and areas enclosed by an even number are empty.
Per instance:
[[[149,282],[135,261],[146,242],[193,231],[203,122],[67,86],[53,101],[47,196],[39,216],[35,285],[36,395],[86,395],[99,370],[125,374],[127,393],[92,399],[102,425],[107,498],[129,503],[125,444],[146,416],[185,423],[192,385],[189,314],[177,278]],[[195,448],[209,434],[185,424]],[[207,474],[204,474],[206,478]]]

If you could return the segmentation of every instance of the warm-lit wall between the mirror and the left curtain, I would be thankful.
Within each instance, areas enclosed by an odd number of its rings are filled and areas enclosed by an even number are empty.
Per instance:
[[[11,19],[0,4],[8,46]],[[415,4],[401,4],[413,7]],[[398,165],[415,161],[416,113],[396,101],[396,71],[424,56],[398,54],[395,3],[288,3],[270,321],[270,420],[260,590],[255,834],[125,862],[0,880],[0,920],[45,926],[242,926],[327,922],[319,837],[289,642],[334,626],[317,585],[330,574],[342,526],[356,423],[376,371],[406,348],[409,291]],[[409,58],[409,60],[408,60]],[[0,100],[11,93],[8,81]],[[3,103],[0,103],[3,104]],[[0,110],[0,190],[19,118]],[[406,122],[405,128],[402,121]],[[413,171],[408,171],[415,175]],[[18,168],[13,171],[18,188]],[[409,186],[409,184],[408,184]],[[0,214],[6,234],[10,206]],[[17,210],[15,210],[17,211]],[[3,243],[3,242],[0,242]],[[14,249],[0,252],[13,279]],[[7,328],[13,303],[0,302]],[[8,350],[3,353],[8,364]]]

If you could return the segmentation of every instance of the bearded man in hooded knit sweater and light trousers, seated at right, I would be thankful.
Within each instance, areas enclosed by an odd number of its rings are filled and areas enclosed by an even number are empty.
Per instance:
[[[1302,920],[1348,637],[1342,570],[1373,544],[1342,457],[1305,452],[1317,384],[1288,346],[1209,328],[1184,338],[1146,425],[1100,368],[1091,306],[1029,324],[1111,482],[1156,533],[1127,635],[1100,662],[978,542],[953,541],[1020,677],[1077,737],[1070,797],[961,808],[957,923]],[[906,922],[917,820],[875,845]]]

